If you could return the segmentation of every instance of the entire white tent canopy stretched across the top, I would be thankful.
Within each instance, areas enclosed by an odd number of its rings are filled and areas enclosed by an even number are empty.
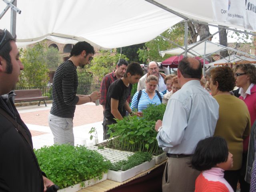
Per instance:
[[[156,1],[194,20],[256,31],[255,12],[245,12],[244,1]],[[250,2],[256,4],[256,0]],[[0,11],[5,7],[0,1]],[[116,48],[152,40],[183,20],[144,0],[17,0],[17,7],[22,11],[17,14],[17,42],[27,44],[51,35],[60,43],[68,38],[70,43],[86,40],[98,48]],[[222,7],[244,19],[232,20],[227,12],[224,18],[218,16],[216,10]],[[10,30],[10,9],[0,20],[0,28]]]

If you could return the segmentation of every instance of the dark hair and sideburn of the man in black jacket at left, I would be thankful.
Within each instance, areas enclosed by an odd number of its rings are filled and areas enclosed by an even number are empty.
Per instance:
[[[0,29],[0,41],[4,38],[4,30]],[[6,73],[11,74],[12,73],[12,63],[11,63],[11,56],[10,52],[12,51],[12,46],[10,41],[16,42],[16,36],[13,38],[10,38],[8,42],[2,46],[0,49],[0,56],[6,60]]]

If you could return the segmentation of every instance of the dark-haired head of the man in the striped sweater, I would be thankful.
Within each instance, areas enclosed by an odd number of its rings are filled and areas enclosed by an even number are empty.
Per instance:
[[[80,41],[76,43],[71,52],[70,57],[80,57],[78,66],[84,68],[86,64],[90,64],[91,60],[93,59],[95,51],[93,46],[91,46],[88,42]]]

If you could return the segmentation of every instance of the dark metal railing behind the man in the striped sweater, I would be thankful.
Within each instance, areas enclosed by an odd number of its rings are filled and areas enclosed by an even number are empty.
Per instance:
[[[52,100],[52,86],[45,87],[16,87],[16,90],[24,89],[40,89],[43,96],[48,96],[49,100]],[[77,94],[79,95],[89,95],[94,91],[100,91],[100,84],[91,85],[78,85]]]

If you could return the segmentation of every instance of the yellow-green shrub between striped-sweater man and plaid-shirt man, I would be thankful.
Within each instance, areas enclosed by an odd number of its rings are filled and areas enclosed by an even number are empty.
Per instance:
[[[100,50],[100,55],[95,56],[90,65],[86,66],[88,72],[91,72],[98,82],[101,82],[102,78],[115,70],[116,63],[118,62],[120,54],[113,54],[110,50]],[[129,60],[125,55],[121,55],[121,58]]]

